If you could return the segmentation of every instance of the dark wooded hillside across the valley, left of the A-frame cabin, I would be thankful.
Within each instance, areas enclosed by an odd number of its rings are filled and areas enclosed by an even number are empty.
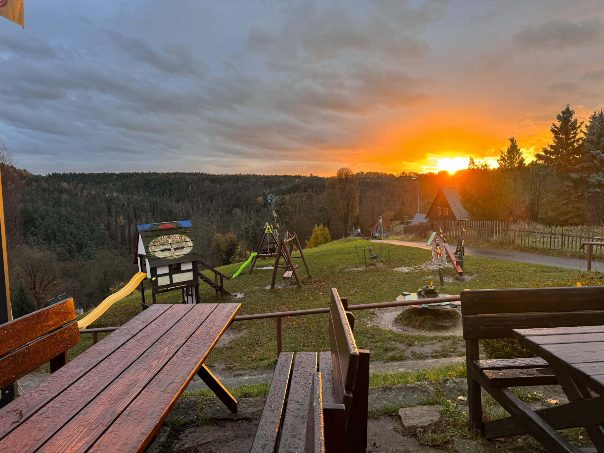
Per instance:
[[[409,174],[357,173],[349,225],[329,198],[329,178],[207,173],[53,173],[33,175],[14,159],[1,164],[13,299],[29,309],[54,297],[98,304],[135,272],[136,225],[190,219],[205,259],[223,265],[243,259],[271,221],[266,197],[277,196],[280,230],[308,240],[315,225],[333,239],[379,216],[413,215],[417,182]],[[420,202],[450,184],[448,173],[422,175]],[[14,302],[14,301],[13,301]],[[21,303],[20,303],[21,304]]]

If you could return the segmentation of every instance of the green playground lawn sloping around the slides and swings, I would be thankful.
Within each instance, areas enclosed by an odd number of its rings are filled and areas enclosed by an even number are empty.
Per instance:
[[[239,277],[225,281],[226,289],[231,292],[243,292],[245,296],[237,299],[242,304],[239,314],[278,312],[284,310],[310,309],[329,306],[330,288],[338,288],[342,297],[348,297],[350,304],[365,304],[396,300],[403,291],[414,292],[430,281],[438,281],[433,270],[414,272],[394,271],[400,266],[417,266],[430,259],[430,252],[415,247],[382,244],[382,255],[387,257],[390,248],[390,265],[375,266],[367,270],[359,268],[355,252],[358,248],[373,246],[379,249],[379,243],[365,240],[344,239],[332,242],[304,252],[309,263],[312,279],[306,277],[300,262],[298,272],[303,288],[265,289],[271,283],[271,270],[258,268],[272,266],[274,260],[259,260],[253,274],[243,272]],[[361,255],[362,259],[362,255]],[[298,260],[300,261],[300,260]],[[233,275],[240,264],[219,268],[225,275]],[[281,281],[280,269],[277,281]],[[454,277],[452,269],[446,268],[445,275]],[[528,288],[535,286],[569,286],[576,278],[576,271],[569,269],[536,266],[525,263],[492,260],[466,256],[466,275],[473,275],[469,281],[446,283],[441,292],[459,294],[465,288]],[[208,274],[209,275],[209,274]],[[216,298],[210,286],[201,283],[199,288],[202,302],[231,301],[230,298]],[[146,294],[150,300],[150,292]],[[160,303],[174,303],[180,298],[180,292],[159,295]],[[90,327],[120,326],[132,316],[141,312],[140,294],[114,304],[108,312]],[[397,333],[368,325],[374,316],[374,310],[355,311],[355,338],[359,348],[371,351],[371,360],[391,361],[422,358],[422,354],[409,352],[410,348],[428,342],[436,344],[433,357],[463,355],[463,342],[459,336],[430,336]],[[283,350],[329,350],[327,337],[327,315],[297,316],[283,318]],[[275,320],[257,320],[234,323],[230,329],[245,329],[243,335],[229,345],[214,349],[209,363],[220,362],[227,368],[271,368],[277,353],[275,342]],[[101,336],[102,337],[102,336]],[[75,356],[92,344],[91,335],[83,335],[82,342],[72,348],[69,355]]]

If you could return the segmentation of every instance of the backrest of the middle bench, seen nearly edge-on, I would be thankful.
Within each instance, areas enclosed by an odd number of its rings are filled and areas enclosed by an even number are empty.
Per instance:
[[[349,413],[359,367],[359,350],[338,290],[332,288],[329,313],[329,342],[332,350],[333,396]],[[348,417],[346,417],[348,418]]]

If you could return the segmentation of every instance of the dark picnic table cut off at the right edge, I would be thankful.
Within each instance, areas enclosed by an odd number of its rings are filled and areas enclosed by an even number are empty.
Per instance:
[[[524,347],[544,358],[569,403],[536,411],[534,421],[561,452],[604,452],[604,326],[516,329]],[[591,390],[591,391],[590,391]],[[596,449],[580,450],[556,429],[584,426]]]

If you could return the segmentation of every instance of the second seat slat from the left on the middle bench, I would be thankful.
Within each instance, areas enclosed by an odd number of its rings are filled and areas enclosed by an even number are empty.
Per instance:
[[[310,389],[315,371],[316,352],[296,353],[288,403],[283,417],[279,453],[300,452],[304,449]]]

